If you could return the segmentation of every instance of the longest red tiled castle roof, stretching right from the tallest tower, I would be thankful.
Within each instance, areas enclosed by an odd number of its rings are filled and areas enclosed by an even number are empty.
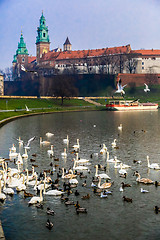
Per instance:
[[[77,50],[77,51],[65,51],[65,52],[48,52],[45,53],[41,60],[63,60],[63,59],[74,59],[74,58],[86,58],[86,57],[98,57],[109,54],[129,53],[131,50],[130,45],[113,47],[113,48],[102,48],[92,50]]]

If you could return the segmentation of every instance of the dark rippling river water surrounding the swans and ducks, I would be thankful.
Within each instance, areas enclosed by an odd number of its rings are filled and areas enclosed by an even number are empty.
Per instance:
[[[119,131],[119,124],[123,124],[123,130]],[[47,138],[46,132],[54,133]],[[69,136],[69,146],[63,143],[63,139]],[[160,112],[74,112],[55,113],[18,119],[10,122],[0,129],[0,155],[8,158],[9,148],[15,143],[17,152],[24,153],[23,147],[19,148],[15,140],[21,136],[27,141],[33,136],[36,140],[31,143],[28,151],[29,158],[24,161],[24,169],[31,170],[36,159],[38,167],[35,170],[40,173],[43,170],[52,170],[50,163],[58,164],[58,167],[73,167],[74,154],[72,145],[80,142],[79,157],[90,160],[90,173],[85,172],[86,179],[77,177],[79,183],[77,190],[79,196],[69,196],[74,202],[79,201],[82,207],[87,209],[87,214],[76,214],[74,206],[65,206],[60,197],[44,196],[43,209],[35,206],[28,207],[29,198],[24,198],[23,192],[13,197],[7,196],[6,201],[0,204],[0,218],[6,239],[14,240],[42,240],[42,239],[159,239],[160,213],[155,214],[154,206],[160,207],[160,187],[143,185],[136,182],[134,171],[139,171],[142,177],[160,181],[160,171],[148,169],[146,157],[149,155],[150,162],[160,164]],[[40,146],[39,138],[49,140],[54,145],[55,158],[51,159],[47,150],[49,146]],[[117,139],[117,149],[113,149],[111,143]],[[131,166],[127,170],[126,179],[119,176],[113,163],[106,162],[106,155],[100,155],[100,145],[108,147],[110,157],[117,156],[123,163]],[[67,158],[63,159],[61,153],[67,147]],[[33,157],[32,154],[37,156]],[[93,153],[98,153],[94,155]],[[91,158],[92,154],[92,158]],[[134,163],[140,160],[141,164]],[[113,182],[112,194],[108,198],[100,198],[93,192],[91,187],[92,177],[95,175],[95,164],[107,166],[106,173]],[[16,167],[13,161],[9,166]],[[58,167],[56,169],[58,169]],[[57,170],[58,171],[58,170]],[[57,171],[52,179],[57,178]],[[87,186],[82,187],[86,180]],[[104,182],[104,180],[102,180]],[[120,192],[121,182],[132,186]],[[63,188],[64,180],[60,179],[60,188]],[[143,187],[149,193],[141,193]],[[27,191],[34,193],[33,188],[27,187]],[[90,194],[90,199],[82,200],[81,197]],[[123,196],[132,198],[132,203],[124,202]],[[55,211],[54,216],[46,214],[46,208]],[[48,230],[45,226],[47,219],[54,226]]]

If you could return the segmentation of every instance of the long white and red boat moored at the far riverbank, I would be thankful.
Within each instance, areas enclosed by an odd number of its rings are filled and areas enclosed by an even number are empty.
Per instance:
[[[135,110],[157,110],[157,103],[140,103],[136,100],[113,100],[106,104],[107,110],[112,111],[135,111]]]

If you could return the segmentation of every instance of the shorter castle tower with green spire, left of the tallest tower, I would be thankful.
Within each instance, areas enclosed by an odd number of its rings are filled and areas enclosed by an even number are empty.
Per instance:
[[[27,50],[26,44],[24,42],[22,31],[21,31],[20,42],[18,43],[18,49],[16,51],[16,54],[13,57],[12,64],[13,64],[13,67],[15,67],[16,64],[18,64],[18,65],[28,64],[28,50]]]

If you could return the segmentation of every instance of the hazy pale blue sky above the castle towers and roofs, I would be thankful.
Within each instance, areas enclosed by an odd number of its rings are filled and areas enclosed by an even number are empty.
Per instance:
[[[72,50],[160,49],[159,0],[0,0],[0,69],[12,66],[21,30],[29,55],[36,55],[42,10],[50,49],[63,49],[67,36]]]

